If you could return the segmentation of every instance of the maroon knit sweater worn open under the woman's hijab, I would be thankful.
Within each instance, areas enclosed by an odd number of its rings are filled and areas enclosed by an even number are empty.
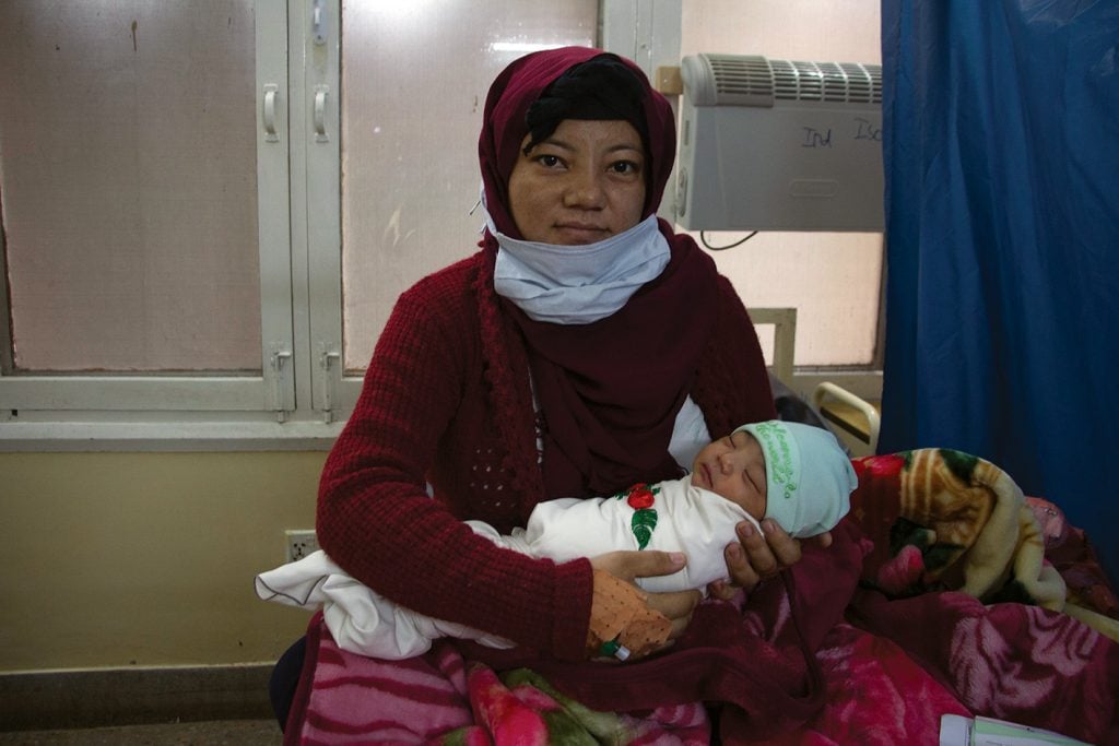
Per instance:
[[[461,522],[508,532],[537,502],[565,497],[544,489],[528,363],[493,295],[492,264],[491,252],[479,252],[397,301],[323,469],[319,541],[392,601],[547,657],[582,660],[590,563],[532,559]],[[692,390],[715,437],[775,416],[746,311],[725,277],[718,292],[716,328]]]

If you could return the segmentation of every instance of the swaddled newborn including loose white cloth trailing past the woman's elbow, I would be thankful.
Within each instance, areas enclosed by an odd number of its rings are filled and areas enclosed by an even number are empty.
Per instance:
[[[681,551],[688,561],[673,575],[638,578],[649,592],[705,588],[726,577],[723,548],[743,520],[775,520],[790,536],[835,527],[858,484],[847,454],[829,432],[768,421],[739,427],[705,445],[692,473],[634,484],[608,498],[542,502],[528,526],[505,536],[482,521],[466,521],[498,546],[557,563],[619,549]],[[496,648],[507,640],[395,604],[348,576],[322,551],[256,576],[265,601],[318,608],[344,650],[382,659],[412,658],[442,636]]]

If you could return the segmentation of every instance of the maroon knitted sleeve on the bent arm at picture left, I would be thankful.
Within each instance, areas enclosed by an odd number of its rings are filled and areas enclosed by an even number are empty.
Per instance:
[[[323,468],[319,541],[398,604],[581,660],[590,563],[557,565],[496,547],[425,491],[467,381],[480,375],[466,274],[440,273],[397,301]]]

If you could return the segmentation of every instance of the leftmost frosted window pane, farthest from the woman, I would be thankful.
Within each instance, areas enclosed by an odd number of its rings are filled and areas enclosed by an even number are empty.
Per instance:
[[[261,368],[248,0],[0,2],[15,366]]]

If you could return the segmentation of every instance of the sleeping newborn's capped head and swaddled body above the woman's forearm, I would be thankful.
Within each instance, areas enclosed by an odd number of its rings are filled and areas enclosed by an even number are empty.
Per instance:
[[[615,549],[683,551],[688,557],[684,569],[638,578],[638,585],[655,593],[703,588],[725,577],[723,548],[734,540],[735,525],[772,518],[790,536],[816,536],[847,513],[857,484],[831,433],[769,421],[705,445],[692,473],[680,479],[637,484],[609,498],[551,500],[511,537],[479,532],[556,561]]]

